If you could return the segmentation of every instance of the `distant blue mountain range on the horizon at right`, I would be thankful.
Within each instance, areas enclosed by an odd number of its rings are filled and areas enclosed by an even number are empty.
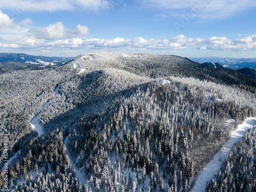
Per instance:
[[[205,62],[219,63],[223,67],[233,69],[233,70],[238,70],[238,69],[248,68],[248,67],[256,70],[256,58],[189,57],[189,59],[198,63],[205,63]]]

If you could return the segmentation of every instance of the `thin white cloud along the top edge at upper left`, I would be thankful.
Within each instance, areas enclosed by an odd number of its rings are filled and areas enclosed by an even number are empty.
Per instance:
[[[1,1],[0,9],[13,9],[15,12],[25,11],[67,11],[77,8],[99,9],[109,8],[109,2],[104,0],[11,0]]]

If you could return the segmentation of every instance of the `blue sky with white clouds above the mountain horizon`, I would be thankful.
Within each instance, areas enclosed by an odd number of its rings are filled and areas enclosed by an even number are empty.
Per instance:
[[[0,52],[256,57],[255,0],[0,0]]]

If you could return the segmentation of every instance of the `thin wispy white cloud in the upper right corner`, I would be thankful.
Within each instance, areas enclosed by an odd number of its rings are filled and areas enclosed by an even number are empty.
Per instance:
[[[166,11],[174,17],[223,19],[256,7],[254,0],[144,0],[144,5]],[[165,17],[166,17],[166,14]]]

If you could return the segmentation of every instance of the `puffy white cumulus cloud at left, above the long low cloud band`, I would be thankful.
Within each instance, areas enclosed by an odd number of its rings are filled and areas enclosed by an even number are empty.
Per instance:
[[[86,26],[76,26],[76,30],[71,30],[65,28],[62,22],[57,22],[56,24],[50,24],[44,28],[38,28],[29,30],[29,34],[38,38],[38,39],[64,39],[64,38],[72,38],[72,37],[80,37],[89,35],[89,29]]]

